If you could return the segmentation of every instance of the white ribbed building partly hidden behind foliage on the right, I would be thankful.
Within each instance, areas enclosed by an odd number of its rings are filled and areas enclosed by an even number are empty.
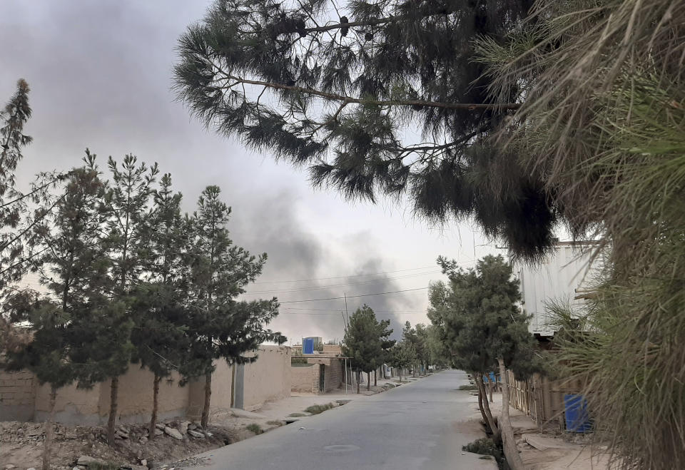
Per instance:
[[[557,242],[554,253],[542,263],[514,266],[521,282],[522,308],[533,316],[529,325],[533,334],[554,334],[546,311],[549,302],[570,302],[574,307],[582,307],[586,302],[579,297],[591,290],[601,265],[599,259],[589,265],[591,243]]]

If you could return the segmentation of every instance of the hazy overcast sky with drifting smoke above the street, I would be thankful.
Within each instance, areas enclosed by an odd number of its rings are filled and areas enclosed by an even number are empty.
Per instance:
[[[268,153],[215,136],[176,103],[171,69],[178,36],[201,19],[208,1],[0,1],[0,101],[17,78],[31,86],[34,143],[18,168],[26,185],[39,170],[79,164],[88,147],[101,165],[126,153],[171,173],[193,210],[206,185],[219,185],[233,208],[233,240],[268,262],[252,297],[278,296],[273,327],[293,343],[303,336],[341,339],[344,300],[390,318],[427,322],[427,287],[439,280],[437,255],[465,266],[494,252],[470,225],[429,227],[402,203],[349,203],[314,190],[307,175]],[[419,269],[421,268],[421,269]],[[377,274],[385,273],[385,274]],[[343,277],[345,276],[345,277]],[[322,279],[328,278],[328,279]],[[308,282],[285,282],[310,280]]]

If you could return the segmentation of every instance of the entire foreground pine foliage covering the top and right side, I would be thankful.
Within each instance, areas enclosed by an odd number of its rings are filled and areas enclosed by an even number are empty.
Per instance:
[[[671,469],[685,468],[684,38],[672,0],[217,0],[174,74],[208,128],[314,185],[406,196],[527,262],[559,228],[597,241],[606,272],[586,331],[565,312],[557,366],[587,384],[624,467]]]

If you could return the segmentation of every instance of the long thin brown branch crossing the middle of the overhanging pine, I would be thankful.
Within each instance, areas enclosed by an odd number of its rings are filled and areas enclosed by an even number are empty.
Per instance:
[[[268,81],[250,80],[248,78],[240,78],[232,75],[226,76],[236,83],[248,83],[250,85],[267,86],[278,90],[291,90],[300,93],[307,93],[313,96],[320,96],[333,101],[342,101],[343,103],[358,103],[374,106],[424,106],[430,108],[446,108],[446,109],[467,109],[473,111],[475,109],[518,109],[520,103],[444,103],[440,101],[423,101],[423,100],[372,100],[365,98],[355,98],[353,96],[339,95],[338,93],[327,93],[325,91],[314,90],[313,88],[303,88],[301,86],[283,85],[283,83],[273,83]],[[233,83],[229,86],[219,86],[219,89],[228,89],[235,86]]]

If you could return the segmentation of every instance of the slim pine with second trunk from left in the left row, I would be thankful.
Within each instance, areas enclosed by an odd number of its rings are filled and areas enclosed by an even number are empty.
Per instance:
[[[111,173],[110,187],[103,198],[103,205],[108,209],[106,223],[108,255],[111,259],[111,295],[119,303],[117,311],[125,311],[131,317],[127,303],[132,300],[133,289],[141,280],[146,267],[148,246],[147,210],[153,193],[153,183],[159,173],[157,165],[150,168],[145,163],[138,164],[133,155],[123,158],[121,167],[113,158],[108,159]],[[132,318],[128,322],[132,322]],[[126,355],[130,351],[130,339],[119,342],[116,347],[119,353]],[[122,359],[123,359],[122,356]],[[108,371],[111,378],[110,409],[107,420],[107,439],[114,442],[114,426],[118,397],[118,377],[126,372],[126,366],[113,367]]]

